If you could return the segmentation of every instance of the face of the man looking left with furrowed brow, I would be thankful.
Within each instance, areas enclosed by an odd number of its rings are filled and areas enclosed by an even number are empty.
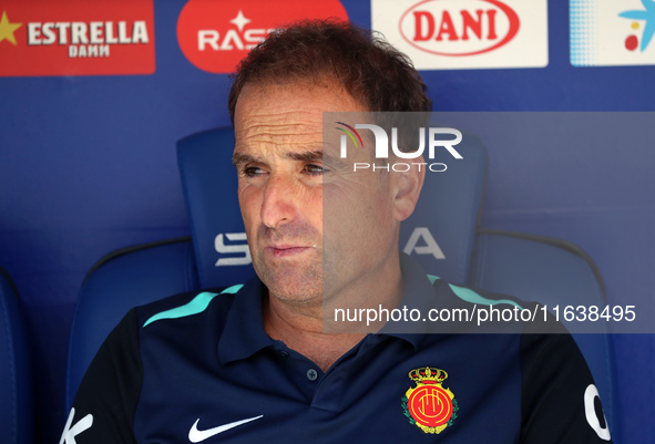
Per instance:
[[[320,302],[324,292],[376,279],[398,248],[391,180],[352,172],[351,162],[371,162],[370,153],[346,163],[336,145],[324,152],[325,111],[367,110],[340,87],[295,83],[247,85],[235,111],[253,264],[272,296],[290,303]]]

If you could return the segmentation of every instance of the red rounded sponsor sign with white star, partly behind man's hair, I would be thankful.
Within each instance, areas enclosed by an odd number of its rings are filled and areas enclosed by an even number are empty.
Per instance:
[[[190,0],[177,19],[177,42],[197,69],[227,74],[276,28],[303,19],[348,20],[338,0]]]

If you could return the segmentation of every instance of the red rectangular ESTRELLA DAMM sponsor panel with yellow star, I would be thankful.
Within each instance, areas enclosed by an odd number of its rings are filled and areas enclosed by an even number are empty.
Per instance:
[[[153,0],[8,2],[0,76],[152,74]]]

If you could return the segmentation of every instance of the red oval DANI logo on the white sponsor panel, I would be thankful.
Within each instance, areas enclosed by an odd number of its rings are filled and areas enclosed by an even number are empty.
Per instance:
[[[421,51],[462,56],[508,44],[521,21],[499,0],[426,0],[409,8],[399,27],[402,38]]]

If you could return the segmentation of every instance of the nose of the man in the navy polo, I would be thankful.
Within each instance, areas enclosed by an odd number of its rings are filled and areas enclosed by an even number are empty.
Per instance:
[[[298,211],[298,196],[293,179],[283,175],[272,176],[264,189],[262,223],[268,228],[294,220]]]

